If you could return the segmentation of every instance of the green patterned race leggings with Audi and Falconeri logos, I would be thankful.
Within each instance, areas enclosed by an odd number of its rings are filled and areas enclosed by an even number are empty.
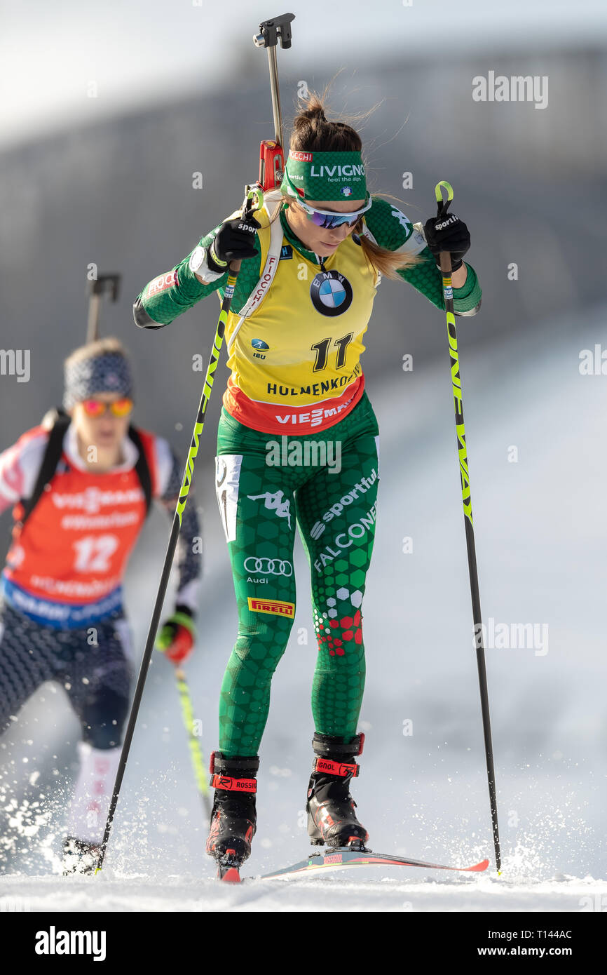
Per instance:
[[[322,734],[357,732],[364,687],[361,603],[375,534],[377,421],[363,394],[319,434],[275,436],[222,409],[216,487],[239,612],[221,685],[219,749],[256,755],[270,684],[295,611],[295,525],[312,573],[319,644],[312,712]],[[316,463],[315,463],[316,461]]]

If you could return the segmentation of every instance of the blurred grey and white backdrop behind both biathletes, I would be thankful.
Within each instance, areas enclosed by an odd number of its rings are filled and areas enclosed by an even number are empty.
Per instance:
[[[607,8],[308,0],[290,9],[292,49],[279,51],[285,133],[298,89],[333,79],[334,117],[375,106],[360,125],[371,188],[426,220],[436,181],[448,179],[471,229],[482,308],[458,331],[483,619],[546,624],[550,635],[546,652],[486,650],[504,855],[511,876],[604,877]],[[32,0],[26,12],[6,2],[0,11],[0,342],[30,352],[28,381],[0,375],[0,448],[59,402],[62,360],[85,339],[95,263],[123,275],[101,333],[133,352],[135,420],[185,457],[203,378],[193,357],[209,356],[218,303],[152,332],[135,329],[132,303],[257,176],[273,126],[267,57],[252,35],[276,11],[250,0]],[[536,78],[543,98],[474,100],[474,79],[494,76]],[[592,374],[581,371],[584,350]],[[360,817],[377,849],[438,862],[490,855],[444,317],[405,284],[384,282],[363,366],[382,486],[365,597]],[[195,476],[206,574],[188,673],[207,753],[236,635],[211,462],[225,377],[221,368]],[[10,526],[5,513],[4,550]],[[154,515],[130,566],[138,653],[168,531]],[[300,550],[296,565],[297,618],[261,750],[258,869],[306,849],[316,643]],[[187,856],[193,874],[210,876],[180,721],[171,669],[155,660],[114,828],[113,863],[125,870],[136,859],[162,876],[185,870]],[[77,733],[61,689],[48,686],[0,743],[4,872],[57,869]]]

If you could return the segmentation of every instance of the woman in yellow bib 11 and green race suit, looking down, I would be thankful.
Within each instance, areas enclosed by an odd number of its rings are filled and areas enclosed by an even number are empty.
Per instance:
[[[245,259],[232,301],[240,311],[225,331],[231,375],[216,458],[240,620],[211,765],[207,851],[222,875],[247,858],[255,833],[257,753],[295,611],[295,526],[310,562],[319,645],[308,833],[333,847],[368,839],[349,791],[362,750],[361,604],[378,483],[362,336],[380,275],[402,278],[443,308],[442,250],[453,261],[456,314],[474,315],[480,304],[462,260],[466,225],[456,216],[429,220],[424,240],[395,206],[369,196],[360,150],[357,132],[327,121],[322,100],[309,98],[294,120],[274,205],[269,194],[255,219],[224,220],[134,302],[136,325],[167,325],[208,294],[222,297],[228,262]]]

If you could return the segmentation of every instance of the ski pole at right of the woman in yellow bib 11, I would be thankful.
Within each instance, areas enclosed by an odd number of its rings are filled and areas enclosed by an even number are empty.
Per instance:
[[[447,199],[442,196],[442,188],[447,191]],[[445,180],[436,183],[435,187],[437,217],[447,213],[453,200],[453,188]],[[470,588],[473,602],[474,642],[476,644],[476,663],[478,667],[478,683],[480,687],[480,709],[482,712],[482,729],[485,742],[485,756],[487,760],[487,778],[489,781],[489,801],[491,804],[491,822],[493,824],[493,843],[495,846],[495,863],[498,872],[502,866],[500,855],[500,833],[498,829],[498,809],[495,790],[495,769],[493,767],[493,746],[491,743],[491,722],[489,718],[489,695],[487,692],[487,672],[485,668],[485,653],[482,640],[482,616],[480,613],[480,596],[478,593],[478,572],[476,570],[476,551],[474,548],[473,505],[470,488],[470,471],[468,467],[468,448],[466,447],[466,428],[464,426],[464,401],[462,398],[462,381],[460,378],[460,361],[457,351],[457,331],[455,328],[455,314],[453,311],[453,286],[451,284],[451,254],[440,252],[440,272],[442,274],[442,293],[444,309],[447,319],[447,336],[449,340],[449,357],[451,360],[451,382],[453,384],[453,402],[455,406],[455,430],[457,434],[457,450],[460,459],[460,480],[462,483],[462,502],[464,505],[464,526],[466,528],[466,548],[468,550],[468,569],[470,572]]]

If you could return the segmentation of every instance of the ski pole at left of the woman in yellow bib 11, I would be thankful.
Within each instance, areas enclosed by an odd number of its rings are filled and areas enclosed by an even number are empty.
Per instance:
[[[257,186],[247,186],[247,195],[245,197],[245,202],[243,204],[243,210],[242,210],[242,214],[244,218],[252,214],[253,198],[256,198],[257,209],[259,209],[263,204],[262,191]],[[196,417],[196,423],[194,424],[192,443],[190,445],[190,451],[188,453],[185,470],[183,472],[183,480],[181,482],[181,487],[179,489],[179,497],[177,500],[175,513],[172,519],[171,534],[169,536],[169,545],[167,547],[165,563],[163,565],[160,583],[158,586],[158,592],[156,594],[156,602],[154,603],[154,609],[152,611],[150,628],[148,630],[147,640],[145,642],[145,649],[143,650],[143,656],[141,658],[139,673],[137,675],[137,682],[134,688],[131,714],[129,715],[129,722],[127,724],[127,730],[125,732],[125,740],[122,746],[122,751],[120,753],[120,761],[118,762],[118,770],[116,772],[116,780],[114,782],[114,791],[112,793],[112,799],[110,801],[109,811],[107,813],[105,832],[103,833],[103,839],[101,841],[99,860],[98,860],[95,873],[98,873],[98,871],[100,871],[103,865],[105,850],[107,848],[107,843],[112,828],[112,822],[114,819],[114,813],[116,811],[116,804],[118,802],[118,797],[120,795],[120,789],[122,786],[122,780],[125,775],[125,768],[127,766],[127,761],[129,759],[131,742],[133,741],[134,726],[137,721],[137,715],[139,713],[139,705],[141,704],[141,698],[143,696],[143,687],[145,685],[145,679],[147,677],[150,660],[152,658],[154,643],[156,643],[158,624],[160,622],[160,615],[163,609],[163,604],[165,602],[165,595],[167,593],[169,577],[171,575],[172,560],[174,558],[175,549],[177,547],[177,540],[179,538],[179,529],[181,527],[181,516],[183,515],[183,511],[188,498],[188,491],[192,483],[192,476],[194,474],[194,462],[196,460],[196,455],[198,454],[200,437],[203,432],[203,428],[205,426],[205,413],[207,412],[207,407],[209,406],[209,398],[210,398],[210,393],[212,390],[212,385],[214,380],[214,372],[217,369],[217,363],[219,362],[221,345],[223,343],[223,333],[225,331],[228,314],[230,312],[230,305],[232,303],[232,298],[234,296],[234,289],[236,287],[236,279],[238,278],[240,269],[241,269],[240,260],[233,260],[230,262],[228,268],[228,281],[225,288],[223,301],[221,302],[219,321],[217,322],[215,337],[213,338],[212,349],[210,351],[209,366],[207,367],[207,373],[205,375],[205,384],[203,386],[201,401],[198,408],[198,415]]]

